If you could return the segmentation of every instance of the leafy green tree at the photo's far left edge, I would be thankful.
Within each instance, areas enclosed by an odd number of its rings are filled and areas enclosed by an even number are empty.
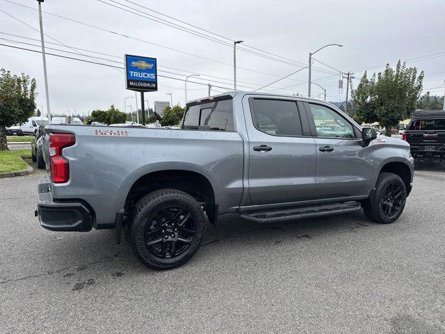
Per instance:
[[[6,127],[24,123],[35,110],[35,79],[0,70],[0,151],[8,150]]]

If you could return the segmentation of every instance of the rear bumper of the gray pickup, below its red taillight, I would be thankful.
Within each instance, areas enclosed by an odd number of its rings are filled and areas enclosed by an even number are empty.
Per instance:
[[[47,177],[40,180],[35,213],[42,228],[51,231],[87,232],[91,230],[94,220],[92,209],[81,200],[55,202],[49,186]]]

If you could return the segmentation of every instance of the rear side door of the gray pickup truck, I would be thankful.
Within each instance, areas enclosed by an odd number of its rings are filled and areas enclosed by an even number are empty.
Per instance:
[[[301,136],[296,101],[254,100],[250,103],[252,113],[245,113],[252,204],[311,200],[315,190],[315,141]],[[267,150],[261,150],[261,145]]]

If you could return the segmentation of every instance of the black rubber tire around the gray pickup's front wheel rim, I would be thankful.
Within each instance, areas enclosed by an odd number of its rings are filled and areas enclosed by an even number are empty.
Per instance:
[[[382,209],[382,200],[384,200],[385,190],[391,183],[396,184],[396,186],[400,188],[401,202],[394,215],[387,216]],[[400,176],[394,173],[380,173],[375,183],[375,189],[371,191],[369,198],[362,202],[363,211],[366,216],[371,219],[371,221],[375,221],[375,223],[393,223],[402,214],[406,197],[406,186]]]

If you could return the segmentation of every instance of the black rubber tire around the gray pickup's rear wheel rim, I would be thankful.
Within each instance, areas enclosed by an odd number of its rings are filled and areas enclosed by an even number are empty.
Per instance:
[[[194,237],[188,248],[177,257],[160,258],[150,252],[146,245],[145,235],[147,233],[147,224],[153,219],[159,210],[170,205],[184,207],[191,213],[191,218],[195,225]],[[176,189],[161,189],[147,194],[133,207],[129,223],[126,226],[126,238],[131,245],[133,253],[147,267],[156,270],[166,270],[180,267],[182,264],[191,260],[193,255],[200,248],[207,230],[207,218],[202,211],[201,205],[193,198]],[[162,241],[163,242],[163,241]]]

